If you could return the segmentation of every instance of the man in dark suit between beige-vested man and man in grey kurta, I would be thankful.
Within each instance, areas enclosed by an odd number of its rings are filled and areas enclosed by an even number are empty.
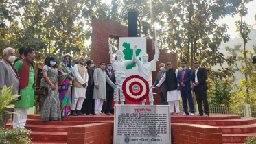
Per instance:
[[[87,60],[87,72],[88,72],[88,82],[87,82],[87,90],[86,90],[86,99],[84,99],[84,104],[82,104],[81,112],[85,113],[86,115],[94,115],[94,100],[93,100],[93,89],[94,89],[94,82],[93,82],[93,73],[94,67],[93,60]]]

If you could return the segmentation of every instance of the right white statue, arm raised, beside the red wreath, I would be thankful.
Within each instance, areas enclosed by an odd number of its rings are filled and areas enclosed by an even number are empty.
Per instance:
[[[154,59],[152,61],[148,62],[148,54],[147,53],[143,54],[142,62],[139,61],[138,58],[135,58],[136,59],[135,62],[139,66],[139,75],[141,77],[143,77],[148,82],[148,85],[150,87],[152,86],[152,69],[153,69],[153,67],[155,67],[156,62],[159,60],[159,44],[154,42],[154,46],[155,46],[155,53],[154,53]],[[136,49],[135,49],[135,51],[136,51]],[[153,105],[154,98],[153,98],[152,88],[150,88],[150,93],[148,94],[148,98],[150,101],[150,105]],[[141,104],[145,105],[145,101],[146,101],[146,99],[141,101]]]

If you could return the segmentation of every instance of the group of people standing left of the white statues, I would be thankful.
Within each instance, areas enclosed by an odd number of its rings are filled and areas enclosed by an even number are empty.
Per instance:
[[[35,86],[44,89],[44,93],[38,95],[43,99],[41,121],[60,121],[68,115],[113,115],[110,110],[117,82],[110,62],[101,62],[100,68],[95,69],[93,60],[86,62],[84,57],[80,57],[72,66],[72,56],[67,53],[58,67],[56,58],[47,56],[35,73],[33,60],[36,51],[31,47],[21,47],[19,54],[16,59],[15,49],[8,47],[3,50],[0,95],[4,85],[13,85],[12,94],[21,97],[13,102],[15,108],[5,108],[1,121],[10,117],[8,112],[14,111],[13,128],[25,128],[27,112],[34,106]],[[5,124],[0,128],[5,128]]]

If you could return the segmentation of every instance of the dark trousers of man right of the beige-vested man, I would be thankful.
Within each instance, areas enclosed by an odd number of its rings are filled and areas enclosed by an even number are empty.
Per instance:
[[[84,104],[82,104],[81,112],[86,115],[94,114],[94,99],[93,99],[93,86],[87,88],[86,99],[84,99]]]

